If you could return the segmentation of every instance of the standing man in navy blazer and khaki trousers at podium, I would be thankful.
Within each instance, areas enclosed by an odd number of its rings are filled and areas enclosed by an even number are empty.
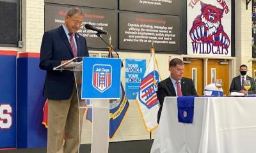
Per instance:
[[[47,153],[74,153],[79,149],[81,118],[74,73],[53,68],[74,57],[88,56],[86,40],[77,34],[82,23],[83,11],[72,8],[65,16],[65,24],[46,31],[43,36],[40,68],[47,71],[44,85],[44,97],[49,99]]]

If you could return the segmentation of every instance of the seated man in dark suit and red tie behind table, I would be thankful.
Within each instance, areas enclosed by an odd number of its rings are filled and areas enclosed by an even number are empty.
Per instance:
[[[184,78],[184,62],[180,59],[172,59],[169,63],[170,77],[157,84],[157,99],[160,103],[160,108],[157,114],[157,122],[159,123],[164,97],[166,96],[197,96],[195,85],[190,78]],[[181,93],[179,87],[181,87]]]

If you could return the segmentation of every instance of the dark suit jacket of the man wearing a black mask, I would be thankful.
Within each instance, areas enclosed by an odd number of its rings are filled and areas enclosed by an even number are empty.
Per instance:
[[[255,94],[256,89],[255,89],[255,82],[254,82],[253,78],[246,75],[246,80],[250,80],[250,82],[251,82],[251,88],[249,89],[248,94]],[[233,78],[232,83],[230,85],[229,92],[234,92],[234,91],[239,92],[239,91],[241,91],[241,89],[242,89],[241,84],[242,83],[241,83],[241,76],[240,75]]]

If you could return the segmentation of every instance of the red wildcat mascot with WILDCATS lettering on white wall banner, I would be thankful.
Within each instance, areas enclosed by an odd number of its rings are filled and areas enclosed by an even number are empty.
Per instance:
[[[230,38],[223,29],[223,10],[211,4],[201,3],[198,15],[189,31],[194,54],[228,54]]]

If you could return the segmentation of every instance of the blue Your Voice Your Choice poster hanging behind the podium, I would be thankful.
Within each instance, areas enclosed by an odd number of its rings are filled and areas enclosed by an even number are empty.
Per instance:
[[[145,70],[145,59],[125,59],[125,93],[128,99],[136,99]]]

